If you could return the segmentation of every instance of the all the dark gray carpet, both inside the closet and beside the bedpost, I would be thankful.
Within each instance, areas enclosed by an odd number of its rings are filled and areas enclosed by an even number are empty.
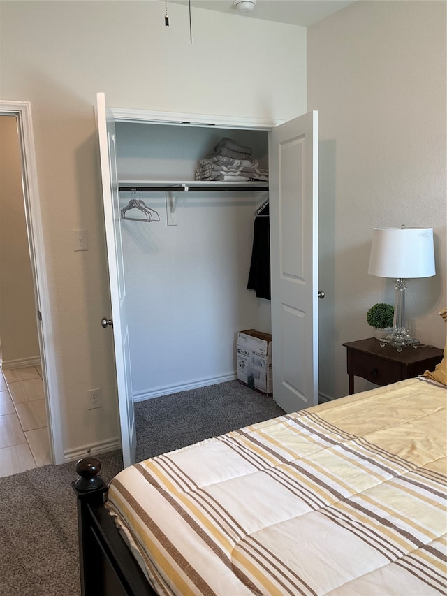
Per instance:
[[[135,404],[137,459],[283,414],[271,398],[237,381]],[[99,456],[108,482],[121,451]],[[75,464],[0,478],[0,595],[79,596]]]

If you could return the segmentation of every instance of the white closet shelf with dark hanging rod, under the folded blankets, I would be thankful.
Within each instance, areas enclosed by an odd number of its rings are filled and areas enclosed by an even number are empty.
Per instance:
[[[121,192],[201,192],[201,191],[268,191],[268,182],[206,182],[191,180],[120,180]]]

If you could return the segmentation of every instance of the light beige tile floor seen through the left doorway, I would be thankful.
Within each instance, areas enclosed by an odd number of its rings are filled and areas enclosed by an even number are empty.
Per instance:
[[[0,477],[51,463],[40,366],[0,372]]]

